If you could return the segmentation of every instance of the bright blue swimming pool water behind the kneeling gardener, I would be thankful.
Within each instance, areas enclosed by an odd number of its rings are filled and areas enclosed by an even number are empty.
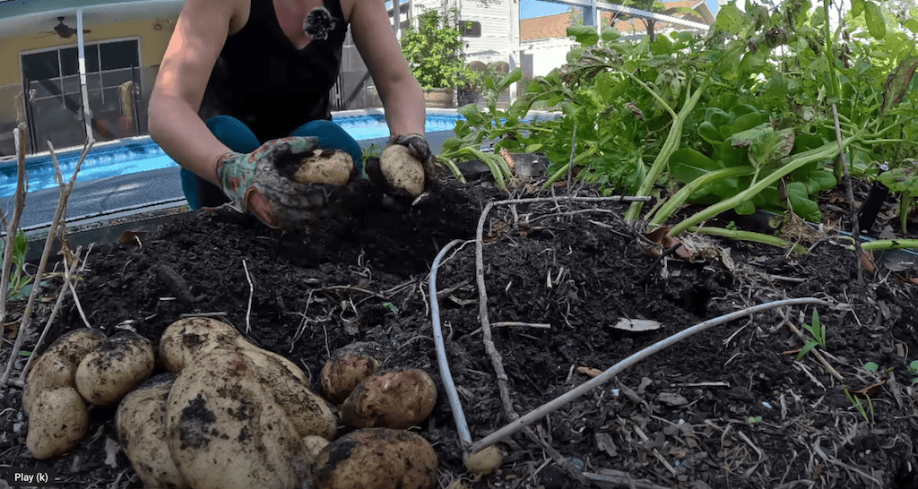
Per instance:
[[[429,114],[427,116],[426,130],[427,132],[453,130],[455,122],[462,118],[462,116],[458,115]],[[381,114],[336,117],[335,122],[353,136],[353,139],[358,141],[387,138],[389,135],[389,129],[386,127],[386,117]],[[57,157],[64,181],[70,181],[76,162],[80,158],[80,150],[62,151],[59,152]],[[118,143],[94,147],[86,155],[76,180],[77,182],[90,182],[106,177],[177,166],[178,164],[151,139],[125,139],[118,141]],[[50,156],[43,155],[26,158],[26,171],[28,172],[29,192],[58,187],[58,184],[54,181],[54,165]],[[16,183],[16,161],[11,160],[0,163],[0,197],[15,194]]]

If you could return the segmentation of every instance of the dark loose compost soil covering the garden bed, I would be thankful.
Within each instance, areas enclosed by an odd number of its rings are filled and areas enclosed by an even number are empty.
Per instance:
[[[374,341],[384,367],[420,368],[441,386],[433,415],[415,428],[440,458],[440,487],[918,487],[918,373],[907,370],[918,360],[913,275],[880,267],[859,283],[854,252],[831,231],[804,242],[807,254],[691,237],[686,259],[641,245],[621,220],[626,205],[568,202],[563,187],[541,196],[555,193],[495,206],[483,228],[487,319],[511,406],[501,402],[479,315],[477,222],[487,202],[507,197],[487,182],[444,181],[413,207],[364,202],[305,241],[229,209],[177,217],[132,244],[92,249],[79,305],[67,299],[45,343],[83,327],[84,316],[106,334],[133,328],[158,344],[183,315],[207,314],[302,366],[318,391],[331,352]],[[453,239],[464,242],[446,254],[433,292],[431,263]],[[33,324],[47,320],[60,287],[48,279]],[[463,468],[442,391],[434,294],[476,440],[707,319],[790,297],[831,306],[817,307],[824,364],[815,352],[798,360],[805,340],[793,329],[809,335],[812,306],[733,320],[635,363],[529,435],[504,439],[502,467],[476,477]],[[17,314],[21,306],[10,320]],[[644,322],[617,328],[622,319]],[[24,350],[38,338],[32,329]],[[6,332],[4,364],[15,333]],[[0,398],[0,467],[53,467],[62,488],[140,487],[117,445],[114,408],[92,408],[76,450],[36,461],[21,394],[12,386]]]

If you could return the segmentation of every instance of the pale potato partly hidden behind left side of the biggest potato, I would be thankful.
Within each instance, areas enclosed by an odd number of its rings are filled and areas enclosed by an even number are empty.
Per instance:
[[[140,384],[118,405],[118,443],[144,487],[188,488],[166,443],[166,399],[174,380],[172,373],[157,375]]]

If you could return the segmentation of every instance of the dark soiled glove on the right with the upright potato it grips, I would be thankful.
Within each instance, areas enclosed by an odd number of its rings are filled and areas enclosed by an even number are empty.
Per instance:
[[[379,157],[379,173],[386,187],[394,194],[417,197],[431,190],[434,156],[427,139],[420,134],[394,135]],[[370,166],[370,162],[367,165]],[[367,168],[373,178],[373,168]]]

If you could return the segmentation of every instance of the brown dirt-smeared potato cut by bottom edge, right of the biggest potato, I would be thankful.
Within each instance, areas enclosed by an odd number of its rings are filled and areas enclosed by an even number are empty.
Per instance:
[[[409,431],[358,429],[319,451],[317,489],[424,489],[437,482],[437,454]]]

